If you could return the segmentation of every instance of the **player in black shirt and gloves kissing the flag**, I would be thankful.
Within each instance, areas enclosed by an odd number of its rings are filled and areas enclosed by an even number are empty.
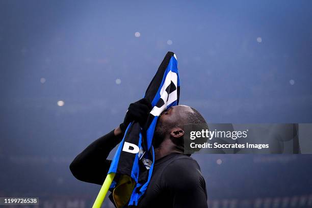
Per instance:
[[[132,121],[143,125],[150,111],[151,105],[144,98],[132,103],[123,123],[76,156],[70,164],[72,174],[79,180],[102,185],[111,164],[107,160],[110,151],[122,140],[127,125]],[[198,111],[188,106],[173,106],[158,118],[152,140],[155,164],[137,207],[207,207],[205,180],[200,167],[190,154],[184,154],[186,123],[208,128]]]

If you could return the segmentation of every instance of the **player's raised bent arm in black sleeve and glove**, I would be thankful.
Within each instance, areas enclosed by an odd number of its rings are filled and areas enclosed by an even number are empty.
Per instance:
[[[143,126],[150,111],[151,104],[145,98],[131,103],[123,123],[76,156],[69,166],[72,174],[79,180],[102,185],[112,162],[107,160],[110,151],[122,140],[128,124],[137,121]]]

